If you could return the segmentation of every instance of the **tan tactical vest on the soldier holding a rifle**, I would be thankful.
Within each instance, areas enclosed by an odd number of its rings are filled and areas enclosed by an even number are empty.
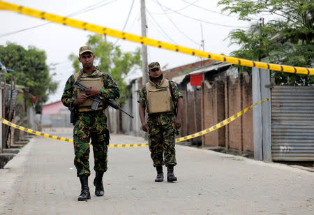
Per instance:
[[[82,84],[84,84],[86,87],[97,87],[98,89],[104,88],[103,85],[103,72],[99,70],[98,67],[96,67],[96,70],[93,73],[83,73],[83,70],[80,70],[78,73],[74,74],[74,80],[79,80]],[[80,96],[82,94],[85,94],[84,90],[80,90],[77,88],[73,89],[74,91],[74,97],[75,99],[77,96]],[[87,112],[92,111],[91,104],[94,101],[91,98],[87,98],[84,103],[78,105],[79,112]],[[99,103],[97,110],[103,110],[103,102]]]

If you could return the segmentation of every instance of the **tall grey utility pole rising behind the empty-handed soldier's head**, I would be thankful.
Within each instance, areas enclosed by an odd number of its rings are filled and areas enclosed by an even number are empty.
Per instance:
[[[147,23],[145,13],[145,0],[141,0],[141,22],[142,22],[142,36],[146,37]],[[147,45],[142,44],[142,84],[148,81],[147,75]]]

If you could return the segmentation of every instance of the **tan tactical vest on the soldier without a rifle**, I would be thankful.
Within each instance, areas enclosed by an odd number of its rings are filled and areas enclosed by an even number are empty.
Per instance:
[[[170,93],[170,82],[165,78],[160,84],[151,80],[145,84],[147,91],[147,112],[149,114],[160,112],[173,112],[174,104]]]

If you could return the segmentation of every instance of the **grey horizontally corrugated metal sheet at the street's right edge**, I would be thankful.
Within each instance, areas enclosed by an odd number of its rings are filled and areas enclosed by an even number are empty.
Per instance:
[[[314,161],[314,87],[271,90],[273,161]]]

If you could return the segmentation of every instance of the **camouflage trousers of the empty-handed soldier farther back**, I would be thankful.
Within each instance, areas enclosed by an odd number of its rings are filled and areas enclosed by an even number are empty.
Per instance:
[[[154,167],[177,165],[174,123],[163,126],[149,123],[149,151]]]

